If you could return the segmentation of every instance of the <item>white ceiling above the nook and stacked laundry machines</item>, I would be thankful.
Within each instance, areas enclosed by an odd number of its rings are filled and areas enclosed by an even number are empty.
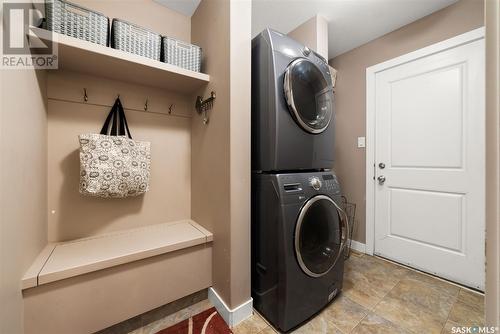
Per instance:
[[[191,16],[200,0],[155,0]],[[208,0],[210,1],[210,0]],[[252,37],[288,33],[314,15],[328,21],[328,58],[352,50],[457,0],[252,0]]]

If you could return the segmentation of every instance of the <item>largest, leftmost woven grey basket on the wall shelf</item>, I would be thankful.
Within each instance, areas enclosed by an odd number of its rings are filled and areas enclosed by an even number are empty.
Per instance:
[[[48,30],[108,45],[109,19],[103,14],[62,0],[46,1],[45,11]]]

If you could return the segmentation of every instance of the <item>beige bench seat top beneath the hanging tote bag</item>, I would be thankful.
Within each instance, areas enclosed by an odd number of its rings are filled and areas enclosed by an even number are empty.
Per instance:
[[[33,288],[70,277],[212,242],[192,220],[148,225],[47,245],[22,279]]]

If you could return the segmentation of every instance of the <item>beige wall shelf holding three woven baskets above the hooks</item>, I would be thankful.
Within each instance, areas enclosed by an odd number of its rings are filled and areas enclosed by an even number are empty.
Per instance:
[[[45,29],[31,27],[29,38],[58,46],[59,69],[75,71],[178,93],[193,93],[210,81],[204,73],[155,61],[121,50],[102,46]]]

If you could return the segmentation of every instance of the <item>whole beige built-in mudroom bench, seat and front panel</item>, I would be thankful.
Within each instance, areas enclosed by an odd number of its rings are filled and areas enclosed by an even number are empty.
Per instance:
[[[212,240],[181,220],[49,244],[21,282],[25,333],[93,333],[205,289]]]

